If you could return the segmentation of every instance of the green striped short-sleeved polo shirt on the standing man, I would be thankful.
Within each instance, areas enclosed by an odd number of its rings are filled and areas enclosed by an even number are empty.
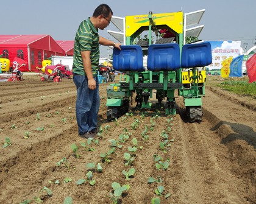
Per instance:
[[[91,23],[90,18],[82,21],[74,40],[73,73],[86,76],[81,51],[91,51],[91,69],[93,76],[97,76],[99,65],[99,33],[98,29]]]

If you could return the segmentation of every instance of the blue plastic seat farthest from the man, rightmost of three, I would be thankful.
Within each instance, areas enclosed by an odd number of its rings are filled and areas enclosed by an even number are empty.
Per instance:
[[[184,44],[182,47],[182,68],[196,68],[212,63],[212,47],[209,42]]]

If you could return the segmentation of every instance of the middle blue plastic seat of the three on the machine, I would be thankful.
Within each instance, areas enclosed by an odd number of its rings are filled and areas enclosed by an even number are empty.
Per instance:
[[[174,71],[180,68],[180,47],[177,43],[151,44],[148,49],[148,70]]]

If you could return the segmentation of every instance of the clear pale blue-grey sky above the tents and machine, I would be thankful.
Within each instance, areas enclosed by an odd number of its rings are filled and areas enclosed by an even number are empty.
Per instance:
[[[201,40],[240,40],[242,47],[248,43],[247,49],[256,41],[256,0],[1,0],[0,35],[49,34],[55,40],[74,40],[80,22],[102,3],[120,17],[205,9],[199,23],[204,25]],[[99,34],[114,40],[107,30],[117,31],[110,24]],[[101,57],[107,57],[107,49],[101,49]]]

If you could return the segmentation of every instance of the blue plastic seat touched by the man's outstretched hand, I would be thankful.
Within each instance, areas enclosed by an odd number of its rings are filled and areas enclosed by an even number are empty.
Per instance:
[[[113,69],[116,71],[144,71],[143,54],[139,45],[123,45],[113,49]]]

